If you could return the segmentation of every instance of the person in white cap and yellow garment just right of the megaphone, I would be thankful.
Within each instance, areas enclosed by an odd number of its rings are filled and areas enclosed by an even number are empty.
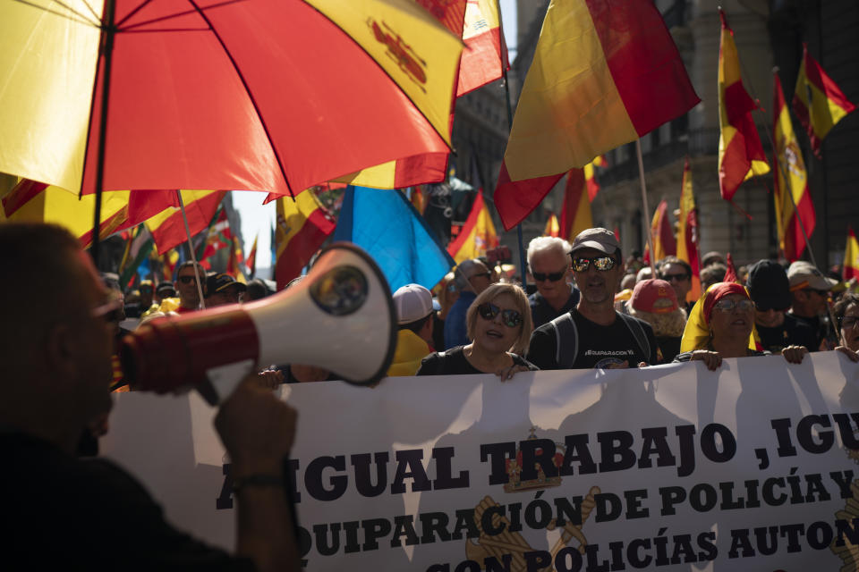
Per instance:
[[[388,377],[414,375],[421,359],[432,353],[432,293],[420,284],[406,284],[394,292],[396,321],[400,331],[396,337],[394,361],[387,370]]]

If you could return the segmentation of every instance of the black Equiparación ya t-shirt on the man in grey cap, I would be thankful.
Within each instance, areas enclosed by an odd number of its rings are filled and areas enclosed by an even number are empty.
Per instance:
[[[562,341],[561,351],[575,351],[572,369],[589,369],[592,367],[605,368],[624,361],[630,367],[638,366],[640,362],[654,365],[659,362],[657,343],[651,324],[634,318],[631,315],[615,317],[614,324],[600,325],[585,318],[578,311],[572,310],[575,324],[575,340]],[[630,326],[641,327],[650,348],[643,348],[636,341]],[[551,323],[534,330],[528,347],[527,359],[540,369],[559,369],[556,355],[557,330]],[[648,353],[649,352],[649,353]],[[562,360],[563,361],[563,360]]]

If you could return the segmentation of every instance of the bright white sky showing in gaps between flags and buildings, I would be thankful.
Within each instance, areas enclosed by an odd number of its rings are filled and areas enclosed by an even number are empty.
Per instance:
[[[507,42],[510,60],[515,58],[516,44],[516,3],[515,0],[500,0],[501,20]],[[275,203],[263,205],[266,193],[234,190],[233,205],[242,214],[242,239],[244,240],[245,255],[251,250],[253,240],[259,237],[257,244],[257,268],[271,266],[271,228],[275,223]],[[261,276],[267,278],[268,276]]]

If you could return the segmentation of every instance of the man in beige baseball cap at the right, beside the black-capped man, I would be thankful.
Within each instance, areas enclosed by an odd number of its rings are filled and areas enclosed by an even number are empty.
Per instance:
[[[804,260],[797,260],[787,268],[787,280],[790,282],[790,314],[817,332],[817,343],[808,348],[816,351],[829,334],[829,321],[821,319],[821,315],[826,315],[829,290],[838,281],[827,278]]]

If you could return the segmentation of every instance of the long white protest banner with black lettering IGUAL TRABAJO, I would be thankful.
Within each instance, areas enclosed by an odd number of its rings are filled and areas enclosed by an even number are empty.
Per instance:
[[[859,561],[859,366],[837,352],[641,370],[284,386],[308,570],[838,570]],[[102,451],[233,547],[195,394],[117,395]]]

